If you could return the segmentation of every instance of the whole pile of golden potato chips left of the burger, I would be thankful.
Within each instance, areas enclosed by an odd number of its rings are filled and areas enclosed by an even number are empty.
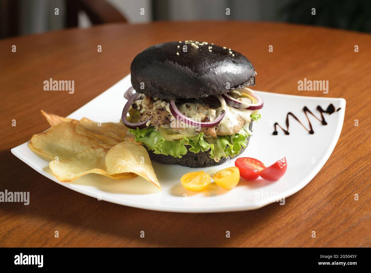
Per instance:
[[[49,168],[61,182],[88,173],[112,179],[142,176],[161,189],[147,150],[133,138],[125,139],[122,123],[96,123],[88,118],[74,120],[41,110],[52,126],[32,136],[29,148],[53,160]]]

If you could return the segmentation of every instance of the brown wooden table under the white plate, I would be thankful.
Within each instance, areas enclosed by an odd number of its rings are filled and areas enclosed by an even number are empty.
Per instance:
[[[40,109],[68,115],[127,75],[143,49],[187,39],[246,55],[258,72],[257,90],[347,100],[334,152],[284,206],[180,214],[98,202],[50,181],[10,153],[49,127]],[[370,45],[371,35],[364,33],[231,21],[115,24],[0,40],[0,191],[30,192],[28,206],[0,203],[0,246],[370,247]],[[49,78],[75,80],[75,93],[44,91]],[[299,92],[303,78],[328,80],[329,93]]]

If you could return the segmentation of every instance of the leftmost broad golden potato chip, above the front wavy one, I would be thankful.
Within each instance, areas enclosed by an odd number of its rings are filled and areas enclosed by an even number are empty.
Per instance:
[[[65,159],[77,155],[89,147],[102,144],[89,131],[78,128],[70,122],[60,122],[44,133],[34,134],[29,148],[48,159]],[[76,129],[76,130],[75,130]]]

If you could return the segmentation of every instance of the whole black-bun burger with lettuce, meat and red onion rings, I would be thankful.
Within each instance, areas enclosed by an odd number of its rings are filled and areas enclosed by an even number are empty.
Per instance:
[[[263,100],[241,53],[192,40],[167,42],[131,63],[122,121],[150,158],[188,167],[219,165],[246,149]]]

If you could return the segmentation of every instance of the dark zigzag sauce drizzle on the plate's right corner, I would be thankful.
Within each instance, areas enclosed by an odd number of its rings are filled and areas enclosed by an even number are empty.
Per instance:
[[[311,121],[309,120],[309,117],[308,117],[308,113],[311,114],[313,117],[315,117],[318,121],[321,121],[321,123],[323,125],[327,125],[327,122],[325,120],[325,117],[324,117],[324,114],[323,113],[327,113],[329,115],[331,115],[332,113],[335,112],[335,107],[334,105],[331,103],[330,105],[328,105],[327,109],[326,110],[323,110],[321,106],[317,106],[316,108],[319,113],[321,114],[321,119],[319,119],[318,117],[316,117],[312,112],[311,110],[308,109],[308,107],[304,106],[303,108],[303,111],[305,113],[305,116],[306,116],[306,119],[308,120],[308,123],[309,123],[309,129],[306,128],[304,126],[304,124],[299,120],[299,118],[297,118],[293,113],[289,112],[287,113],[286,115],[286,130],[282,128],[282,126],[280,126],[277,122],[275,123],[275,131],[273,132],[273,135],[278,135],[278,131],[277,131],[277,126],[280,127],[282,129],[282,131],[289,135],[289,116],[292,116],[293,118],[295,118],[296,121],[298,121],[298,123],[301,124],[301,126],[303,126],[303,128],[309,133],[309,134],[314,134],[314,131],[313,131],[313,127],[312,127],[312,123]],[[341,108],[338,108],[338,110],[336,110],[336,112],[338,112]]]

